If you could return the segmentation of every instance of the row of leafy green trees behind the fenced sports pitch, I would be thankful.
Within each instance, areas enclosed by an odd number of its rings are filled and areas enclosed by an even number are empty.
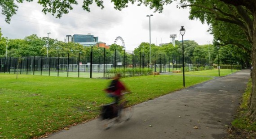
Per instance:
[[[1,34],[0,34],[1,35]],[[8,42],[7,42],[8,41]],[[8,44],[7,44],[8,43]],[[25,37],[24,39],[7,39],[0,37],[0,57],[5,57],[6,46],[7,57],[21,57],[21,56],[41,56],[47,53],[47,37],[40,38],[36,34]],[[116,49],[116,51],[115,51]],[[184,55],[188,57],[192,63],[196,63],[198,59],[207,59],[206,63],[217,63],[217,48],[212,44],[199,45],[198,43],[190,40],[184,41]],[[49,38],[48,55],[51,57],[77,57],[88,58],[90,55],[91,47],[84,47],[79,43],[62,42],[57,39]],[[210,52],[210,59],[209,59]],[[148,42],[141,42],[141,44],[134,50],[134,55],[144,58],[145,65],[149,63],[150,45]],[[111,44],[110,49],[105,50],[106,59],[111,59],[113,55],[117,55],[118,61],[122,61],[124,55],[128,59],[128,63],[132,63],[132,54],[124,54],[123,46]],[[103,48],[93,47],[93,56],[100,57],[103,55]],[[160,56],[173,58],[182,56],[182,43],[176,40],[176,46],[172,43],[156,46],[151,44],[151,60],[155,63]],[[219,50],[220,64],[246,64],[250,63],[250,56],[241,51],[240,48],[234,45],[222,46]],[[138,60],[138,58],[137,58]],[[246,66],[245,65],[245,66]]]

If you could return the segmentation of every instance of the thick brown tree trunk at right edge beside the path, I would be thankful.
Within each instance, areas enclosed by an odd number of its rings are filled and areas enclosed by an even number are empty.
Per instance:
[[[249,110],[246,114],[247,117],[256,121],[256,12],[253,13],[253,40],[252,40],[252,93],[249,102]]]

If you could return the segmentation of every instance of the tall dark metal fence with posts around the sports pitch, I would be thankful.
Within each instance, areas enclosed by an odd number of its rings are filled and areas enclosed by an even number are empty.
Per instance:
[[[0,72],[44,75],[44,76],[66,76],[85,78],[110,78],[116,72],[123,72],[125,76],[149,75],[151,72],[182,71],[182,56],[143,53],[126,53],[125,51],[114,51],[106,54],[91,51],[87,55],[77,57],[45,57],[27,56],[19,58],[0,58]],[[195,59],[185,57],[186,71],[195,71],[209,67],[207,59]]]

